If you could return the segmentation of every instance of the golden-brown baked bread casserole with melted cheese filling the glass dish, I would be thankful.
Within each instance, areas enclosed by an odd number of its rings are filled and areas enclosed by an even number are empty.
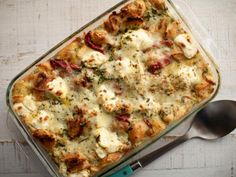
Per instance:
[[[14,111],[68,177],[94,176],[214,91],[164,0],[135,0],[18,80]]]

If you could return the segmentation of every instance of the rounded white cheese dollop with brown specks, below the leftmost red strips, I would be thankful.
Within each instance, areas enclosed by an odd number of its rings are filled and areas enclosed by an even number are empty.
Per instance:
[[[59,76],[48,82],[47,87],[50,93],[59,98],[65,98],[68,93],[66,82]]]

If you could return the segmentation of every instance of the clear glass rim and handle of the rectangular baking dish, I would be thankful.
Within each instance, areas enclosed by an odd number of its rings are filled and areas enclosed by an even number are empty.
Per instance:
[[[9,84],[7,89],[7,96],[6,96],[6,102],[9,107],[10,111],[10,117],[12,118],[13,122],[18,127],[19,131],[22,133],[26,141],[29,143],[30,147],[33,149],[33,151],[36,153],[36,155],[39,157],[41,162],[44,164],[44,166],[47,168],[49,173],[52,176],[55,177],[62,177],[62,175],[59,173],[57,165],[51,160],[48,153],[43,149],[43,147],[34,140],[31,133],[27,129],[26,125],[21,121],[20,118],[18,118],[17,114],[14,112],[12,108],[12,100],[11,100],[11,94],[12,94],[12,88],[14,83],[24,77],[25,75],[32,72],[35,68],[35,66],[43,61],[46,61],[53,57],[58,51],[60,51],[62,48],[67,46],[70,42],[72,42],[75,38],[80,36],[83,33],[86,33],[90,31],[91,29],[94,29],[98,25],[100,25],[113,11],[117,11],[123,6],[125,6],[127,3],[131,2],[132,0],[124,0],[112,7],[111,9],[107,10],[91,22],[89,22],[87,25],[83,26],[76,32],[74,32],[72,35],[67,37],[65,40],[57,44],[55,47],[53,47],[51,50],[49,50],[47,53],[45,53],[43,56],[41,56],[39,59],[37,59],[35,62],[33,62],[30,66],[25,68],[22,72],[20,72]],[[213,58],[217,57],[217,49],[215,48],[214,43],[212,42],[211,38],[207,35],[207,33],[204,31],[204,29],[199,24],[198,19],[194,16],[189,6],[187,6],[182,0],[167,0],[166,2],[171,14],[176,18],[179,19],[182,23],[183,28],[191,34],[193,40],[198,45],[199,51],[205,58],[206,62],[209,64],[209,68],[212,71],[212,75],[214,77],[214,80],[216,81],[216,85],[214,88],[214,92],[211,94],[211,96],[205,100],[203,100],[201,103],[196,105],[188,114],[186,114],[182,119],[172,123],[169,125],[161,134],[158,136],[150,139],[148,142],[142,144],[135,150],[132,150],[130,153],[128,153],[125,157],[123,157],[118,163],[107,167],[103,171],[101,171],[97,176],[107,176],[108,174],[111,174],[114,172],[115,169],[119,168],[119,166],[122,166],[124,162],[127,162],[132,158],[134,155],[136,155],[138,152],[143,150],[144,148],[148,147],[149,145],[156,142],[158,139],[163,137],[165,134],[172,131],[174,128],[176,128],[178,125],[180,125],[182,122],[187,120],[191,115],[201,109],[204,105],[206,105],[208,102],[210,102],[215,95],[217,94],[219,87],[220,87],[220,75],[218,68],[216,64],[213,61]]]

